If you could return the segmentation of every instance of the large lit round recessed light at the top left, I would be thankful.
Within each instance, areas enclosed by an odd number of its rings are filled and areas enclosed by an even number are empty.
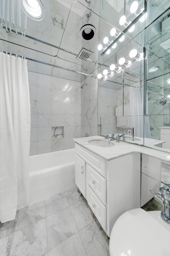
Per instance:
[[[21,0],[21,8],[33,20],[42,20],[45,15],[41,0]]]

